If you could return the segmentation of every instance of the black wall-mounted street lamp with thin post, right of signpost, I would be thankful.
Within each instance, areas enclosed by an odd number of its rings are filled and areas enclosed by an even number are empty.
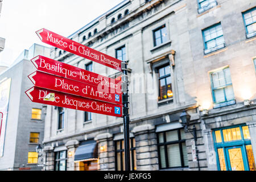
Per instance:
[[[196,126],[194,125],[193,126],[193,129],[188,129],[188,124],[190,122],[190,118],[191,118],[191,115],[189,115],[187,113],[187,111],[183,110],[183,112],[180,114],[180,123],[181,125],[184,127],[185,129],[185,132],[190,132],[193,137],[194,137],[194,140],[195,140],[195,148],[196,148],[196,158],[197,158],[197,164],[198,164],[198,168],[199,168],[199,171],[200,171],[200,165],[199,165],[199,158],[198,158],[198,150],[197,150],[197,146],[196,146],[196,141],[197,141],[197,135],[196,135]]]

